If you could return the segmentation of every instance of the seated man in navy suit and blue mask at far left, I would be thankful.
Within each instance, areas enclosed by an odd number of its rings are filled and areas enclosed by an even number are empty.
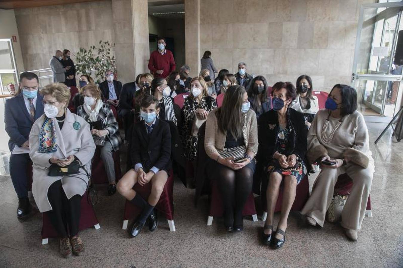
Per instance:
[[[17,217],[29,214],[27,166],[32,165],[29,158],[29,132],[33,122],[44,113],[42,96],[38,94],[39,79],[32,72],[23,72],[19,80],[19,92],[14,98],[7,99],[4,107],[6,132],[10,136],[10,175],[18,196]],[[39,141],[38,141],[39,142]]]

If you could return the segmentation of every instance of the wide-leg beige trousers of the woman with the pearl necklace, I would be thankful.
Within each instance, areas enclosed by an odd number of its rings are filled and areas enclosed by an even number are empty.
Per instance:
[[[312,188],[312,194],[301,210],[301,214],[312,217],[318,225],[323,227],[337,178],[339,175],[347,173],[353,180],[353,188],[351,188],[349,198],[347,198],[341,214],[341,226],[347,229],[359,230],[365,216],[368,196],[371,192],[374,169],[372,161],[370,161],[366,169],[354,164],[347,164],[338,169],[322,168]]]

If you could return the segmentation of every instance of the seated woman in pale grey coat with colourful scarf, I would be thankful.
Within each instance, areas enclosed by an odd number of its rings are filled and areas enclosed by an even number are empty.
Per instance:
[[[87,171],[91,169],[95,144],[88,123],[67,109],[70,91],[66,85],[47,85],[40,94],[44,97],[45,114],[35,121],[29,134],[32,194],[39,211],[48,212],[60,236],[62,256],[69,257],[72,252],[79,255],[84,251],[78,236],[81,197],[87,190]],[[63,171],[75,161],[85,170],[50,176],[54,168],[63,167]]]

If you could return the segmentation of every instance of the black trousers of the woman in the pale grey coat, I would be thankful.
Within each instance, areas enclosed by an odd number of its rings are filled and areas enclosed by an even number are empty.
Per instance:
[[[50,185],[48,199],[52,210],[46,213],[59,236],[64,238],[77,235],[81,215],[81,196],[76,194],[67,199],[62,188],[62,181],[58,180]]]

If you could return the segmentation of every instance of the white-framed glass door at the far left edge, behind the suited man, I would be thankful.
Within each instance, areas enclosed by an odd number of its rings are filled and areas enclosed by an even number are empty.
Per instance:
[[[17,64],[11,39],[0,39],[0,95],[10,95],[18,84]]]

